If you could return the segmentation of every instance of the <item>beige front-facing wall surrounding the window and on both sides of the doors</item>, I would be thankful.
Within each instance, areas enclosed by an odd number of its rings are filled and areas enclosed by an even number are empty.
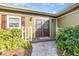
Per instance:
[[[0,29],[1,29],[1,15],[7,15],[7,16],[19,16],[19,17],[25,17],[25,27],[32,27],[32,35],[33,35],[33,38],[36,38],[36,27],[35,27],[35,18],[49,18],[50,21],[51,21],[51,18],[53,17],[48,17],[48,16],[41,16],[41,15],[28,15],[28,14],[20,14],[20,13],[12,13],[12,12],[2,12],[0,11]],[[31,21],[30,21],[31,19]],[[7,20],[7,19],[6,19]],[[54,20],[55,22],[55,20]],[[54,37],[55,36],[55,23],[52,23],[51,22],[51,36]]]

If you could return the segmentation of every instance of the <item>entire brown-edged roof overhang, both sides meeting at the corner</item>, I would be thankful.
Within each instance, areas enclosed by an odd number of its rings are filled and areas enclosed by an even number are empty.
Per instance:
[[[17,8],[17,7],[10,7],[10,6],[5,6],[5,5],[0,5],[0,10],[2,11],[8,11],[8,12],[18,12],[18,13],[24,13],[24,14],[36,14],[36,15],[44,15],[44,16],[49,16],[49,17],[60,17],[63,16],[69,12],[72,12],[76,10],[76,8],[79,7],[79,3],[74,3],[70,7],[66,8],[65,10],[57,13],[57,14],[52,14],[52,13],[46,13],[46,12],[40,12],[36,10],[30,10],[30,9],[25,9],[25,8]]]

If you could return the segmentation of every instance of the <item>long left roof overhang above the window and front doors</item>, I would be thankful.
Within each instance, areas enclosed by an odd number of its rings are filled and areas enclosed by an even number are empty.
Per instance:
[[[45,13],[45,12],[40,12],[40,11],[36,11],[36,10],[30,10],[30,9],[23,9],[23,8],[16,8],[16,7],[10,7],[10,6],[4,6],[4,5],[0,5],[0,10],[1,11],[11,11],[11,12],[19,12],[19,13],[24,13],[24,14],[36,14],[36,15],[44,15],[44,16],[50,16],[50,17],[54,17],[53,14],[51,13]]]

